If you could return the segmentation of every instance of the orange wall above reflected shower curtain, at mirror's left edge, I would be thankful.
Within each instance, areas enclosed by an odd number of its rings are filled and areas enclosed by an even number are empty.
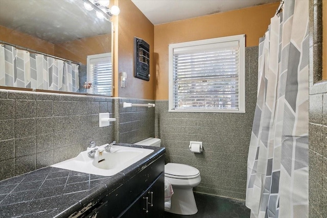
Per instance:
[[[54,55],[54,44],[3,26],[0,26],[0,40]]]

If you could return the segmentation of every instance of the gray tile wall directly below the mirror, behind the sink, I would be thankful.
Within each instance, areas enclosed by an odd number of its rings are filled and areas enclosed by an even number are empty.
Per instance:
[[[99,113],[113,116],[113,98],[0,90],[0,180],[85,151],[94,140],[114,139],[114,123],[99,128]]]

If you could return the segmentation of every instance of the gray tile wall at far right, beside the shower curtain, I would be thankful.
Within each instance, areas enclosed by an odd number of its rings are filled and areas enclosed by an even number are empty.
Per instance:
[[[327,81],[321,81],[322,1],[310,0],[309,5],[309,217],[323,218],[327,214]]]

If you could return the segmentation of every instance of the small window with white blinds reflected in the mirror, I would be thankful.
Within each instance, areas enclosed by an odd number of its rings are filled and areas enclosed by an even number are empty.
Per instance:
[[[92,83],[88,93],[112,95],[111,53],[87,56],[87,81]]]

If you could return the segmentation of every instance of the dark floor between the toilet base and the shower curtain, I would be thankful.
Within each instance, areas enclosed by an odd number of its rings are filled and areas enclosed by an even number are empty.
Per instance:
[[[249,218],[250,209],[244,202],[217,196],[194,193],[198,212],[194,215],[178,215],[165,212],[165,218]]]

